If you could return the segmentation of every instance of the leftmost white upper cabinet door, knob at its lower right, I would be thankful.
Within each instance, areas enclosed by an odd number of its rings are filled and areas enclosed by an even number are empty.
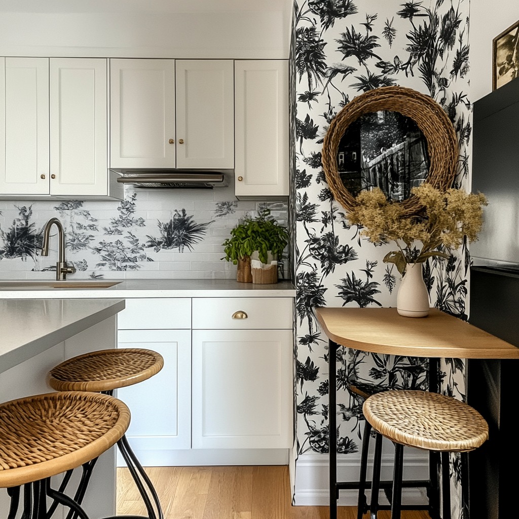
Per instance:
[[[49,194],[49,59],[0,58],[0,194]]]

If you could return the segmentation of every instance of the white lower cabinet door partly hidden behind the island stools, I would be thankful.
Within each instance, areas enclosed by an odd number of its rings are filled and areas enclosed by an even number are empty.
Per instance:
[[[130,409],[126,435],[141,464],[169,465],[171,450],[191,446],[191,331],[119,330],[118,348],[150,349],[164,359],[161,371],[118,389],[117,398]]]

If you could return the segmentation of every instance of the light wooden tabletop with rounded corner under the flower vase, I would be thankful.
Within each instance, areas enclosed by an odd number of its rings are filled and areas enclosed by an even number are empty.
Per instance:
[[[372,353],[406,357],[519,359],[519,348],[495,335],[431,308],[428,317],[399,315],[396,308],[315,309],[335,343]]]

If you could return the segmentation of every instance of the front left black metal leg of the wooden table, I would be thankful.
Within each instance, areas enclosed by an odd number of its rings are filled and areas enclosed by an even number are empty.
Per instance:
[[[328,346],[328,443],[330,454],[330,519],[337,519],[337,348],[338,344],[332,340]]]

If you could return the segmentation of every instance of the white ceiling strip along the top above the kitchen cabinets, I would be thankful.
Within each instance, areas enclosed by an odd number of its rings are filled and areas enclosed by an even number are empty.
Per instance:
[[[292,0],[0,0],[0,12],[288,12]]]

